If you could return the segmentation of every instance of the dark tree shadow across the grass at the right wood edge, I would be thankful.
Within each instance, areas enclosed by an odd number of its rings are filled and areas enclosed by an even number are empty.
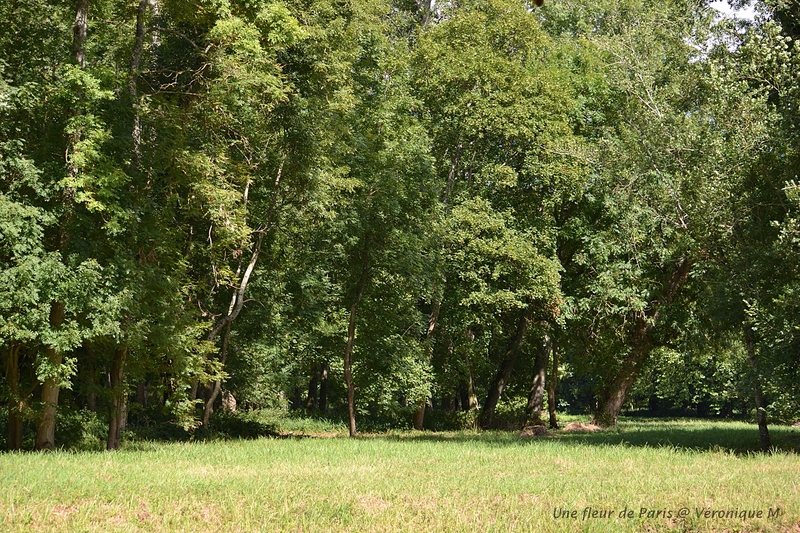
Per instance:
[[[771,426],[773,451],[800,454],[800,427]],[[553,442],[580,446],[632,446],[673,448],[687,451],[721,451],[745,455],[761,453],[758,427],[743,422],[708,420],[621,421],[619,426],[590,433],[550,430],[541,437],[522,438],[518,432],[485,431],[376,435],[377,438],[409,442],[460,442],[485,446],[519,446],[531,442]]]

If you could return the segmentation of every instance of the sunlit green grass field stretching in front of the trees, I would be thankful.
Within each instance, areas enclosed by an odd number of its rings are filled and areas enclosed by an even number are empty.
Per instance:
[[[0,454],[0,531],[800,532],[800,428],[772,435],[771,455],[748,452],[753,425],[631,420],[533,439],[409,432]]]

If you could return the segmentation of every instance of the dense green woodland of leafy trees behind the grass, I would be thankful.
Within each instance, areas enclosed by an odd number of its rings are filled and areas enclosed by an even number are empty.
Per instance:
[[[753,5],[4,0],[7,449],[272,410],[730,417],[769,450],[800,420],[800,4]]]

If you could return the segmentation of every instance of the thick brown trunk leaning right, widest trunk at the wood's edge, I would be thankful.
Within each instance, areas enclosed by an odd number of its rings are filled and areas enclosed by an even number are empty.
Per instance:
[[[631,335],[631,351],[626,356],[617,375],[601,396],[598,409],[592,418],[593,424],[602,427],[617,424],[617,417],[622,411],[625,397],[655,346],[652,331],[658,322],[661,307],[675,298],[678,290],[688,279],[691,268],[691,260],[688,257],[684,257],[672,272],[669,281],[661,291],[660,297],[651,302],[648,309],[636,313]]]

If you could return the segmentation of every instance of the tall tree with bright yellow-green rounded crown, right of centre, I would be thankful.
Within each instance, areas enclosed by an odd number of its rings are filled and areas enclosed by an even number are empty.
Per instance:
[[[468,2],[423,32],[415,60],[444,188],[437,355],[465,342],[491,352],[487,425],[530,323],[559,299],[549,207],[570,187],[554,170],[574,166],[560,149],[575,100],[552,49],[521,4]],[[475,363],[444,366],[471,382]]]

